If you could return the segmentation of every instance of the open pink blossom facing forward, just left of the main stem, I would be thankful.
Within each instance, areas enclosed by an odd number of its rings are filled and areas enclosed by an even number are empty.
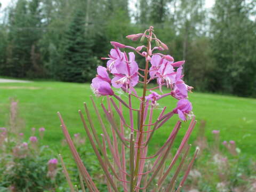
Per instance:
[[[125,55],[126,56],[126,55]],[[129,61],[127,57],[125,57],[125,65],[117,65],[116,66],[116,73],[114,73],[114,78],[112,79],[111,83],[116,88],[121,88],[127,91],[131,89],[135,85],[137,85],[139,81],[138,76],[138,64],[134,60],[135,55],[133,52],[129,53]]]

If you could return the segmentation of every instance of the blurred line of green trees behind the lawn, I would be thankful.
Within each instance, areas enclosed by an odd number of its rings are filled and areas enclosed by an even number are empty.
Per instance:
[[[132,1],[134,2],[134,1]],[[18,0],[0,24],[0,75],[89,82],[111,45],[154,26],[195,90],[256,97],[256,2]],[[142,60],[138,60],[143,65]]]

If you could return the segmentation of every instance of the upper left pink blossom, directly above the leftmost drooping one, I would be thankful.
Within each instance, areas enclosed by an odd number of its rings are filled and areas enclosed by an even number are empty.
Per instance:
[[[101,58],[101,59],[109,59],[107,62],[108,70],[111,72],[112,69],[114,69],[117,65],[124,63],[124,53],[121,52],[118,48],[111,49],[110,55],[108,55],[109,58]]]

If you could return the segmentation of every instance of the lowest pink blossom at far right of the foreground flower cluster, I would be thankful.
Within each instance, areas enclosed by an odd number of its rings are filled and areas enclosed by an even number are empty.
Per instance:
[[[177,107],[173,109],[173,113],[178,114],[180,119],[187,121],[186,116],[192,110],[191,102],[187,99],[181,99],[177,102]]]

